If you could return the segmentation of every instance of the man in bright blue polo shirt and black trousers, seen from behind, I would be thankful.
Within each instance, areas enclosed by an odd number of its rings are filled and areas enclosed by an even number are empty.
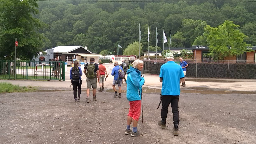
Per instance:
[[[168,113],[168,107],[171,103],[172,113],[173,113],[173,134],[178,136],[180,114],[179,114],[179,97],[180,97],[180,83],[185,77],[182,68],[177,65],[173,60],[173,54],[168,53],[165,56],[167,63],[161,66],[160,69],[160,82],[162,84],[161,99],[162,99],[162,109],[161,118],[158,125],[162,129],[165,129],[166,118]]]

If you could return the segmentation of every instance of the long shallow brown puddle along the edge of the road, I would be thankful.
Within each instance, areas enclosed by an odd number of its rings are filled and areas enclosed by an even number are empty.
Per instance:
[[[161,89],[143,88],[143,93],[161,93]],[[113,89],[106,92],[115,92]],[[213,90],[207,87],[190,87],[186,90],[181,90],[182,93],[200,93],[200,94],[256,94],[256,91],[228,91],[228,90]],[[126,89],[123,89],[121,93],[126,93]]]

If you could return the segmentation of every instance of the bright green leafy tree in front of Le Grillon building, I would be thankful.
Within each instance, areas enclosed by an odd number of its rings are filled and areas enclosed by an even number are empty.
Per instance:
[[[239,32],[239,25],[235,25],[232,21],[225,21],[217,28],[209,25],[205,28],[209,33],[207,42],[209,45],[209,56],[215,60],[224,60],[226,57],[238,56],[248,52],[244,39],[247,36]],[[250,51],[250,50],[249,50]]]

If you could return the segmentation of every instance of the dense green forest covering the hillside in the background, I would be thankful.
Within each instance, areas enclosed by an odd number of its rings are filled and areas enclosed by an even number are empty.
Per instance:
[[[227,1],[227,0],[217,0]],[[228,0],[235,1],[235,0]],[[148,50],[148,25],[150,46],[163,47],[163,28],[169,47],[191,47],[196,37],[204,33],[204,27],[217,27],[225,20],[240,25],[248,36],[245,41],[256,44],[256,2],[235,3],[143,3],[143,2],[38,2],[38,18],[48,24],[42,31],[48,38],[45,47],[58,45],[83,45],[94,53],[109,50],[114,53],[117,43],[123,47],[139,40],[141,23],[143,51]]]

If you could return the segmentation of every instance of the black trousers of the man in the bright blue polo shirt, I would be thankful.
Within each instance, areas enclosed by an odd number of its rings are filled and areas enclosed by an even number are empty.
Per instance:
[[[172,114],[173,114],[173,124],[175,127],[179,125],[180,114],[179,114],[179,95],[162,95],[162,109],[161,109],[161,118],[162,122],[165,123],[168,113],[168,107],[171,103]],[[163,121],[164,120],[164,121]]]

